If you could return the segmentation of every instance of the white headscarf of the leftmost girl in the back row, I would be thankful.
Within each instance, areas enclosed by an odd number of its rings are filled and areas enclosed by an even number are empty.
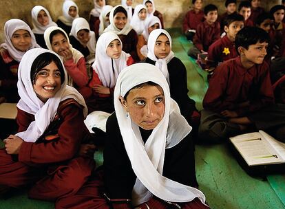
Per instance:
[[[41,12],[41,10],[45,11],[48,17],[48,24],[43,26],[41,23],[38,21],[38,14]],[[43,34],[45,32],[45,29],[49,28],[50,26],[57,26],[56,23],[52,21],[52,17],[50,17],[50,12],[47,11],[46,8],[44,8],[41,5],[35,5],[34,8],[32,8],[32,32],[34,34]]]

